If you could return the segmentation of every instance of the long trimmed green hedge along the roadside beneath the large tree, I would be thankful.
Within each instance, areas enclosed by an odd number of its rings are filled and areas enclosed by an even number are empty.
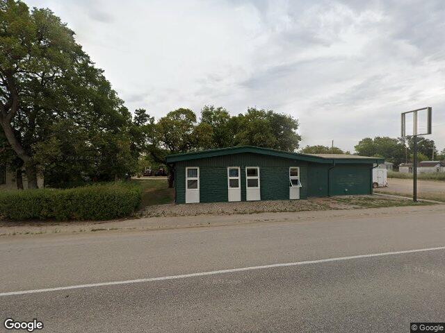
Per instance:
[[[74,189],[0,191],[0,217],[12,220],[107,220],[128,216],[140,206],[142,188],[112,182]]]

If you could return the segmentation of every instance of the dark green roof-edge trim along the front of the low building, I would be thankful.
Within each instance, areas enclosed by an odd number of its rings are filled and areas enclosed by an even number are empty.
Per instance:
[[[385,162],[380,157],[367,157],[357,155],[335,155],[330,157],[321,157],[310,154],[290,153],[289,151],[278,151],[277,149],[262,148],[255,146],[236,146],[229,148],[209,149],[206,151],[192,151],[188,153],[173,154],[167,156],[167,163],[172,164],[180,161],[197,160],[200,158],[216,157],[223,155],[252,153],[261,155],[270,155],[275,157],[289,158],[291,160],[301,160],[306,162],[315,162],[323,164],[380,164]],[[344,157],[343,157],[344,156]]]

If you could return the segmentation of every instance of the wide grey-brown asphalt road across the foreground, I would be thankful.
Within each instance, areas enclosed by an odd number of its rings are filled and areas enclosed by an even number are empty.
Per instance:
[[[437,205],[205,229],[1,237],[0,319],[38,318],[42,332],[410,332],[410,322],[445,321],[445,250],[350,256],[443,247],[444,222],[445,205]],[[329,258],[343,259],[1,296]]]

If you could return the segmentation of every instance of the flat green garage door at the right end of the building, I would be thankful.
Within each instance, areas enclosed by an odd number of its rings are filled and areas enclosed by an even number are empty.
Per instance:
[[[337,165],[331,170],[331,196],[371,194],[372,165]]]

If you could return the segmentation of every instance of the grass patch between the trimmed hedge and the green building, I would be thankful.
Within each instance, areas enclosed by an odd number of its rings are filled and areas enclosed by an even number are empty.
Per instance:
[[[175,189],[168,188],[166,179],[134,179],[131,181],[142,187],[141,210],[148,206],[164,205],[174,201]]]

